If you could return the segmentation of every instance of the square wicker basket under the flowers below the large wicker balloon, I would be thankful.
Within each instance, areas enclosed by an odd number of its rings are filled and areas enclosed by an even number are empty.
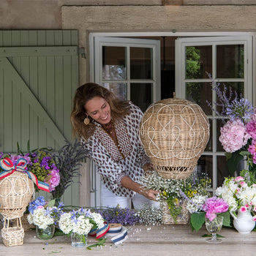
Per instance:
[[[179,203],[179,202],[178,202]],[[187,202],[181,205],[181,214],[178,215],[176,221],[170,215],[170,209],[166,201],[161,203],[162,223],[163,224],[187,224],[189,222],[189,211],[187,211]]]

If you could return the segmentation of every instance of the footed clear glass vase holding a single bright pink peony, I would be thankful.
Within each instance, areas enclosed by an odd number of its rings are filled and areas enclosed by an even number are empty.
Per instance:
[[[222,239],[217,238],[217,233],[222,229],[223,217],[217,216],[212,221],[206,218],[206,229],[211,233],[211,238],[206,239],[206,242],[211,244],[222,243]]]

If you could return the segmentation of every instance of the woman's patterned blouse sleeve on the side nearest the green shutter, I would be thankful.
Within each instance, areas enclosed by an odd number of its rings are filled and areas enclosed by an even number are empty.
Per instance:
[[[96,140],[94,138],[94,140]],[[94,160],[95,165],[97,165],[97,171],[111,183],[113,188],[121,186],[121,179],[126,176],[124,166],[114,162],[113,159],[108,155],[108,152],[104,148],[95,146],[92,140],[85,143],[86,148],[91,152],[89,157]]]

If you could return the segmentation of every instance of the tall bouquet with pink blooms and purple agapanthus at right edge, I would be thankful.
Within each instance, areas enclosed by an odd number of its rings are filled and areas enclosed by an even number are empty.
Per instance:
[[[211,78],[211,77],[210,77]],[[256,108],[244,97],[238,97],[231,87],[224,85],[223,91],[219,83],[211,82],[216,91],[218,102],[214,113],[222,118],[219,141],[227,152],[227,166],[231,175],[237,170],[238,163],[246,159],[249,170],[256,174]],[[221,109],[221,110],[219,110]]]

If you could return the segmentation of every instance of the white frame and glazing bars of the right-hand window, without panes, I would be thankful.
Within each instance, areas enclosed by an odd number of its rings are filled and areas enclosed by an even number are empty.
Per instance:
[[[211,45],[212,46],[212,78],[216,78],[216,45],[244,45],[244,78],[232,79],[214,79],[217,82],[225,83],[243,82],[244,83],[244,97],[252,102],[252,36],[246,37],[193,37],[181,38],[176,40],[176,97],[184,99],[186,97],[186,83],[202,82],[210,83],[211,80],[206,79],[186,79],[186,47]],[[216,102],[216,95],[213,94],[212,102]],[[208,118],[215,119],[215,116],[208,116]],[[212,143],[213,151],[203,152],[203,155],[213,157],[213,181],[212,190],[217,189],[217,157],[225,156],[224,152],[217,151],[217,122],[213,120],[212,125]]]

